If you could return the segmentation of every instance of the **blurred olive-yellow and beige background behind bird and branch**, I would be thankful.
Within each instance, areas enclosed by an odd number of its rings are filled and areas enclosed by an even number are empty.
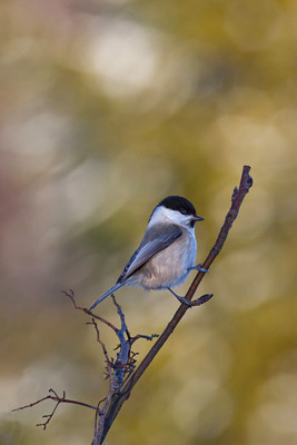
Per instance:
[[[296,17],[293,0],[1,0],[0,444],[91,442],[85,408],[61,406],[46,432],[52,403],[10,413],[50,387],[106,395],[95,332],[61,289],[90,306],[171,194],[205,218],[202,261],[244,165],[254,187],[199,289],[215,297],[186,314],[107,442],[297,443]],[[166,291],[117,296],[133,335],[177,308]],[[97,312],[118,323],[111,299]]]

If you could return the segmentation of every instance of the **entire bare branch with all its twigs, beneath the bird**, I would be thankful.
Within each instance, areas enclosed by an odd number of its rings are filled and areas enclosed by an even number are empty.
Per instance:
[[[253,185],[253,179],[249,176],[249,170],[250,167],[245,166],[242,169],[242,175],[240,179],[240,185],[239,187],[235,187],[232,196],[231,196],[231,206],[230,209],[228,210],[225,222],[219,231],[219,235],[217,237],[217,240],[211,248],[210,253],[208,254],[206,260],[202,264],[201,269],[209,269],[210,265],[217,257],[217,255],[220,253],[228,233],[232,226],[232,222],[237,218],[239,208],[244,201],[244,198],[246,197],[247,192],[249,191],[249,188]],[[158,354],[158,352],[161,349],[168,337],[174,333],[175,328],[177,327],[178,323],[181,320],[186,312],[194,306],[200,306],[205,303],[207,303],[210,298],[212,298],[214,294],[205,294],[200,296],[199,298],[192,300],[192,297],[201,283],[202,278],[205,276],[205,271],[199,270],[192,280],[187,294],[186,294],[186,299],[187,301],[190,303],[190,305],[186,305],[182,303],[178,309],[176,310],[174,317],[168,323],[167,327],[162,332],[160,336],[157,334],[152,334],[150,336],[147,335],[141,335],[138,334],[136,336],[130,336],[130,333],[128,330],[128,327],[126,325],[126,319],[125,315],[121,310],[120,305],[117,303],[116,298],[113,295],[111,295],[112,300],[115,306],[117,307],[117,313],[120,319],[120,328],[108,322],[107,319],[93,314],[91,310],[87,308],[82,308],[77,305],[76,299],[75,299],[75,293],[72,289],[69,291],[62,291],[72,303],[73,308],[83,312],[85,314],[89,315],[92,317],[91,322],[88,322],[87,324],[92,325],[96,330],[97,335],[97,342],[99,343],[105,359],[106,359],[106,366],[107,366],[107,375],[109,377],[109,390],[107,397],[105,397],[102,400],[98,403],[97,406],[92,406],[82,402],[77,402],[77,400],[71,400],[66,398],[66,393],[63,392],[62,397],[59,397],[58,394],[53,389],[49,389],[49,395],[46,397],[40,398],[37,402],[33,402],[29,405],[21,406],[19,408],[16,408],[13,411],[19,411],[19,409],[24,409],[32,407],[34,405],[38,405],[41,402],[44,402],[47,399],[51,399],[56,402],[56,405],[50,414],[46,414],[42,417],[46,419],[43,423],[38,424],[38,426],[42,426],[43,429],[47,428],[49,422],[53,417],[58,406],[61,403],[70,403],[70,404],[76,404],[80,406],[85,406],[91,409],[96,411],[96,416],[95,416],[95,433],[93,433],[93,442],[92,445],[100,445],[102,444],[110,426],[112,425],[115,418],[117,417],[121,406],[123,405],[125,400],[130,395],[131,389],[136,385],[136,383],[139,380],[139,378],[142,376],[143,372],[147,369],[151,360],[155,358],[155,356]],[[119,346],[117,346],[116,349],[117,352],[117,358],[116,360],[111,357],[109,358],[108,352],[106,349],[106,346],[100,338],[100,332],[97,322],[100,322],[105,324],[106,326],[110,327],[113,333],[117,335],[119,339]],[[154,344],[151,349],[148,352],[146,357],[142,359],[142,362],[139,364],[139,366],[136,368],[136,356],[137,353],[133,353],[131,350],[131,346],[136,340],[139,338],[143,338],[147,340],[152,340],[154,338],[159,337],[157,342]],[[102,407],[100,408],[100,405]]]

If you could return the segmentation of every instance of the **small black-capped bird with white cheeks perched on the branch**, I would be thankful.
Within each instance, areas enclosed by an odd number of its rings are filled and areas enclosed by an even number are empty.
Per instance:
[[[123,286],[140,286],[145,290],[168,289],[180,303],[190,306],[171,287],[185,281],[194,267],[197,243],[195,224],[204,220],[196,215],[194,205],[181,196],[168,196],[155,207],[145,236],[125,266],[116,285],[90,307],[92,310],[106,297]]]

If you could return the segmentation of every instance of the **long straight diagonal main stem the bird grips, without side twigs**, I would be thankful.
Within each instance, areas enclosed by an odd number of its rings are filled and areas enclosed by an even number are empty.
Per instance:
[[[249,191],[249,188],[253,186],[253,178],[249,176],[249,170],[250,167],[244,166],[242,168],[242,174],[241,174],[241,179],[240,179],[240,185],[239,188],[235,187],[234,194],[231,197],[231,207],[229,211],[226,215],[225,222],[219,231],[219,235],[217,237],[217,240],[211,248],[209,255],[207,256],[206,260],[202,264],[204,269],[209,269],[210,265],[214,263],[218,254],[220,253],[228,233],[237,218],[239,208]],[[199,284],[201,283],[202,278],[205,276],[204,271],[198,271],[196,275],[194,281],[191,283],[187,294],[186,294],[186,299],[190,301],[194,297],[194,294],[196,293]],[[202,297],[198,298],[197,300],[192,301],[195,306],[201,305],[206,301],[208,301],[212,297],[212,294],[204,295]],[[131,389],[136,385],[136,383],[139,380],[141,375],[145,373],[151,360],[155,358],[155,356],[158,354],[158,352],[164,346],[165,342],[168,339],[168,337],[172,334],[175,328],[177,327],[178,323],[181,320],[186,312],[188,310],[189,306],[181,304],[179,308],[177,309],[176,314],[171,318],[171,320],[168,323],[167,327],[158,338],[158,340],[155,343],[155,345],[151,347],[151,349],[148,352],[146,357],[142,359],[138,368],[135,370],[135,373],[131,375],[131,377],[128,379],[128,382],[125,384],[120,394],[115,395],[112,403],[110,405],[109,412],[107,414],[106,423],[105,423],[105,429],[103,434],[101,435],[101,442],[105,439],[107,433],[109,432],[110,426],[112,425],[115,418],[117,417],[121,406],[123,403],[128,399]]]

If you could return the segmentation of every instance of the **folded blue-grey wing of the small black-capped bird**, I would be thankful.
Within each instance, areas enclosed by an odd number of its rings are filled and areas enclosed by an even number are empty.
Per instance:
[[[138,249],[127,263],[117,283],[123,283],[139,267],[143,266],[158,251],[166,249],[182,235],[182,230],[176,226],[156,225],[147,231]]]

